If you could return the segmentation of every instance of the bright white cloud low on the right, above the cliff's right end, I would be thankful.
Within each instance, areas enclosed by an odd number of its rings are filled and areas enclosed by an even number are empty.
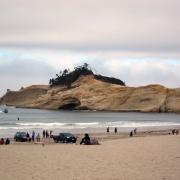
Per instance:
[[[180,62],[164,59],[121,59],[104,63],[106,74],[121,78],[129,86],[161,84],[180,87]]]

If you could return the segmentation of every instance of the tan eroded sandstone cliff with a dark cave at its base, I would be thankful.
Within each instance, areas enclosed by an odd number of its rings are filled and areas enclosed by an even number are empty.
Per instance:
[[[82,76],[70,89],[39,85],[7,92],[0,104],[41,109],[180,112],[180,89],[160,85],[125,87]]]

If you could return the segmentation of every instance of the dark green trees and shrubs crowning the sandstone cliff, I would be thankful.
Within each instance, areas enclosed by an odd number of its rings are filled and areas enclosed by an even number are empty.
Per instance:
[[[87,63],[84,63],[82,66],[75,67],[73,71],[70,71],[69,69],[60,71],[59,74],[56,74],[55,78],[49,80],[49,84],[51,86],[65,85],[70,88],[71,84],[82,75],[94,75],[94,78],[97,80],[125,86],[125,83],[119,79],[94,74]]]

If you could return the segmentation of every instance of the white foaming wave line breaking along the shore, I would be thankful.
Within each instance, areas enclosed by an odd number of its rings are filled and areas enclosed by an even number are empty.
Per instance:
[[[85,128],[138,128],[138,127],[165,127],[177,126],[176,122],[134,122],[134,121],[116,121],[116,122],[87,122],[87,123],[60,123],[60,122],[34,122],[34,123],[13,123],[7,126],[0,126],[0,129],[85,129]]]

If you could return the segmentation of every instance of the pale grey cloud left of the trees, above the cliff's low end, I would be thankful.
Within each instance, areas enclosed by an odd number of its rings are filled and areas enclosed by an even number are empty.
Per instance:
[[[0,58],[0,96],[6,89],[18,90],[32,84],[48,84],[56,70],[42,61],[32,59]]]

